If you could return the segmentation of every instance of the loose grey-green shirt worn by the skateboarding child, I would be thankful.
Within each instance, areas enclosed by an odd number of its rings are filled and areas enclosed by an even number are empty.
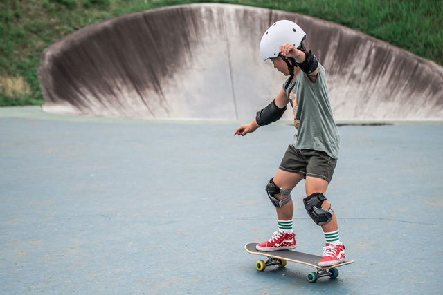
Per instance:
[[[283,88],[288,79],[283,83]],[[315,83],[300,71],[285,91],[293,107],[293,124],[297,129],[293,146],[296,149],[324,151],[329,157],[338,159],[340,133],[329,104],[325,68],[318,64]]]

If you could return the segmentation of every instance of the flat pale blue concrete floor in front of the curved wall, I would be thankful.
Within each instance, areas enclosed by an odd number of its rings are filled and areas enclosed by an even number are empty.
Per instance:
[[[443,125],[341,126],[329,201],[352,265],[335,280],[244,251],[277,228],[273,124],[0,108],[0,294],[441,294]],[[298,251],[323,234],[293,191]]]

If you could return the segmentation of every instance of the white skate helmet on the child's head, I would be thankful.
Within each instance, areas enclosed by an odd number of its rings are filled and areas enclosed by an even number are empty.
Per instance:
[[[260,54],[263,61],[269,57],[278,57],[280,46],[293,44],[301,47],[306,33],[293,21],[277,21],[264,32],[260,41]]]

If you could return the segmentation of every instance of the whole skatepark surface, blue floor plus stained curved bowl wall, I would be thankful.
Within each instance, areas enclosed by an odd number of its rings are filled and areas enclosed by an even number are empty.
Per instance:
[[[255,44],[278,19],[309,31],[341,134],[327,196],[355,263],[316,284],[296,263],[258,272],[244,250],[278,228],[264,188],[295,132],[289,110],[233,136],[282,86]],[[441,294],[442,73],[347,28],[243,6],[79,30],[42,57],[43,110],[0,108],[0,294]],[[297,251],[321,255],[304,184]]]

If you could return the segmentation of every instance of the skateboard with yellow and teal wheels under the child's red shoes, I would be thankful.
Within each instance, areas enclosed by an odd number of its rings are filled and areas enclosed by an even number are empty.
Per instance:
[[[293,250],[278,250],[278,251],[258,251],[255,246],[257,243],[251,242],[249,244],[244,245],[244,249],[248,253],[266,256],[268,260],[264,262],[263,260],[257,261],[255,267],[260,272],[264,271],[266,266],[269,265],[278,265],[278,267],[284,267],[287,261],[292,261],[293,263],[300,263],[302,265],[309,265],[311,267],[315,267],[317,269],[316,272],[309,272],[307,274],[307,280],[310,283],[316,283],[317,279],[322,276],[329,276],[329,278],[336,278],[338,276],[338,269],[336,267],[341,267],[343,265],[350,265],[354,263],[354,260],[345,261],[343,263],[339,263],[337,265],[332,265],[329,267],[320,267],[318,266],[318,262],[322,258],[321,256],[306,254]]]

